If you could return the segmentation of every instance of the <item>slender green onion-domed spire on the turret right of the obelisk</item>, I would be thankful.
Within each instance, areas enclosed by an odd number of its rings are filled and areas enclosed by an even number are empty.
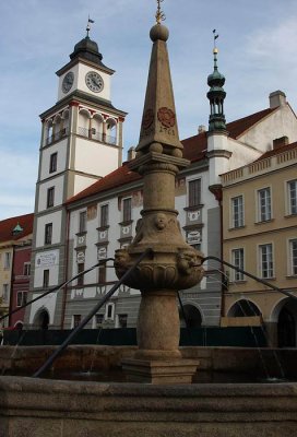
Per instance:
[[[223,88],[225,83],[225,76],[219,73],[217,68],[217,52],[218,49],[215,45],[215,40],[218,35],[216,31],[213,31],[214,34],[214,71],[207,78],[207,84],[210,86],[210,91],[207,93],[207,98],[210,101],[211,114],[209,121],[209,131],[226,131],[226,119],[224,115],[224,99],[226,97],[226,93]]]

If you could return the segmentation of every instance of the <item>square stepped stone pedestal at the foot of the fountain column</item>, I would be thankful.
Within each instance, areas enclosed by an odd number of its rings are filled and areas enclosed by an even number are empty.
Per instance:
[[[128,382],[191,383],[198,359],[123,359]]]

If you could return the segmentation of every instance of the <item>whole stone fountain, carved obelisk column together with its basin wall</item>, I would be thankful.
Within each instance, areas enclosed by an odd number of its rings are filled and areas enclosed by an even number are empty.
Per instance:
[[[118,276],[142,294],[139,347],[121,358],[127,378],[142,382],[2,376],[0,437],[276,437],[296,432],[296,383],[189,383],[207,351],[178,349],[177,291],[198,283],[203,269],[202,256],[181,237],[174,205],[175,176],[187,161],[178,139],[161,1],[151,31],[138,156],[131,163],[144,177],[144,210],[133,243],[116,253]],[[94,356],[93,351],[93,364]],[[57,365],[66,367],[67,359],[60,359]]]

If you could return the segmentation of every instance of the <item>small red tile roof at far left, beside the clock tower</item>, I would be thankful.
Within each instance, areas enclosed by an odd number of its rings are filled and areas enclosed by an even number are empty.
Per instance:
[[[0,243],[19,240],[33,233],[34,214],[17,215],[0,221]],[[13,235],[13,229],[17,224],[23,228],[22,232]]]

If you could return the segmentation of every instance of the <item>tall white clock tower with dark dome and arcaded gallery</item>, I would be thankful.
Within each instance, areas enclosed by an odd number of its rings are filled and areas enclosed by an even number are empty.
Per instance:
[[[40,115],[41,141],[35,196],[31,296],[62,283],[67,269],[64,203],[121,165],[127,113],[111,104],[114,70],[98,45],[80,40],[70,61],[57,71],[56,105]],[[61,293],[28,307],[26,323],[60,328]]]

